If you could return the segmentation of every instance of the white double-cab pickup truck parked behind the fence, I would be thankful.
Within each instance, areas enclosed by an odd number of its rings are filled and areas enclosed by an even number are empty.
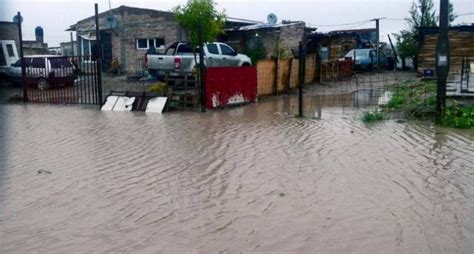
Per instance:
[[[198,50],[196,50],[198,52]],[[175,42],[164,54],[147,54],[145,63],[148,72],[163,79],[166,72],[170,76],[183,76],[192,73],[199,65],[199,54],[196,59],[192,47],[184,42]],[[237,54],[229,45],[212,42],[204,45],[204,66],[206,67],[240,67],[251,66],[252,60],[246,55]]]

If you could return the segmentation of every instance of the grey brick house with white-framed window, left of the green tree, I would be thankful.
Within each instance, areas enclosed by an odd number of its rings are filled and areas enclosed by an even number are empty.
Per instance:
[[[113,16],[113,18],[111,18]],[[109,20],[109,22],[106,22]],[[248,24],[239,20],[226,26]],[[186,33],[172,12],[120,6],[99,14],[102,43],[103,70],[108,70],[112,60],[118,60],[122,72],[136,73],[144,68],[144,55],[154,47],[158,52],[176,41],[186,40]],[[96,56],[95,17],[91,16],[71,25],[67,31],[77,35],[77,55]]]

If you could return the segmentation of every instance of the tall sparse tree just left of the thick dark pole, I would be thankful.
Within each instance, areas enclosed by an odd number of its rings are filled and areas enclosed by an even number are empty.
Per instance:
[[[435,12],[433,0],[413,1],[409,14],[410,16],[406,18],[408,28],[402,30],[399,34],[395,34],[395,37],[397,39],[398,54],[402,58],[402,63],[405,62],[405,58],[412,57],[416,67],[420,28],[436,27],[438,25],[438,16]],[[449,22],[453,22],[456,17],[454,7],[449,3]]]

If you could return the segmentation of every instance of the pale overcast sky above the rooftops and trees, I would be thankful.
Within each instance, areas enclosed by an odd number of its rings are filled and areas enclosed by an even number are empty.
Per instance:
[[[120,5],[170,10],[186,0],[110,0],[112,8]],[[381,40],[386,41],[387,34],[395,33],[405,27],[401,19],[408,16],[412,0],[217,0],[218,9],[225,10],[229,17],[265,21],[268,13],[275,13],[279,21],[302,20],[318,31],[356,29],[374,27],[368,20],[378,17],[381,20]],[[435,0],[435,8],[439,0]],[[451,0],[460,16],[455,23],[474,23],[474,0]],[[77,21],[94,14],[94,3],[99,11],[109,8],[109,0],[0,0],[0,20],[11,21],[13,16],[22,13],[23,36],[25,40],[34,39],[34,29],[42,26],[45,42],[49,46],[58,46],[69,40],[65,30]],[[367,21],[356,25],[347,23]],[[343,25],[346,24],[346,25]]]

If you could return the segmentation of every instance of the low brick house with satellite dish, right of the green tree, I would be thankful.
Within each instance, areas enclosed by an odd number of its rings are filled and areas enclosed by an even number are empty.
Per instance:
[[[226,29],[220,40],[244,53],[261,47],[265,58],[288,58],[292,56],[292,50],[298,49],[303,35],[313,30],[301,21],[259,23]]]

